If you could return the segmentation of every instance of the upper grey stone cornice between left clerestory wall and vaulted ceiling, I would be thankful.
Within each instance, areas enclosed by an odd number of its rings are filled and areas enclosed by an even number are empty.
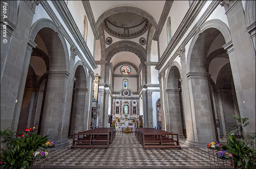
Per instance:
[[[90,1],[82,1],[82,3],[83,3],[83,6],[84,6],[84,10],[86,12],[86,15],[88,17],[88,20],[90,22],[94,37],[95,37],[95,39],[99,40],[100,39],[100,34],[99,34],[99,31],[98,31],[98,28],[96,26],[96,22],[95,22],[93,13],[92,13],[92,8],[91,8]]]

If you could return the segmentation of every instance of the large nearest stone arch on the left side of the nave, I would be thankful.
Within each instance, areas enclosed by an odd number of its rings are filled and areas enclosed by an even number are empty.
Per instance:
[[[65,41],[65,38],[62,35],[62,32],[61,32],[60,28],[52,20],[49,20],[49,19],[46,19],[46,18],[42,18],[42,19],[37,20],[30,29],[29,40],[34,42],[35,38],[36,38],[36,35],[38,33],[40,34],[40,31],[43,30],[43,29],[49,33],[49,35],[47,35],[47,36],[51,36],[51,37],[53,36],[53,38],[55,40],[58,40],[58,39],[60,40],[62,46],[57,47],[57,49],[58,48],[59,48],[58,50],[63,49],[64,53],[62,54],[61,52],[59,52],[58,53],[59,55],[55,54],[54,57],[63,58],[63,55],[64,55],[64,57],[65,57],[65,71],[68,71],[69,54],[68,54],[66,41]],[[52,31],[54,31],[56,34],[54,34]],[[51,40],[51,39],[48,39],[48,40]],[[58,45],[58,44],[56,43],[56,45]],[[50,56],[50,54],[49,54],[48,57],[51,58],[52,56]],[[50,62],[50,64],[52,64],[52,63]],[[59,66],[59,67],[61,67],[61,66]],[[64,71],[62,67],[57,68],[57,69],[58,70],[62,69],[62,71]],[[50,70],[51,70],[51,67],[50,67]]]

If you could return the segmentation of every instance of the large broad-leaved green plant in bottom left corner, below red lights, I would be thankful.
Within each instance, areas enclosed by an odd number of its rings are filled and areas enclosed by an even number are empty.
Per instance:
[[[2,168],[28,168],[32,162],[33,150],[25,150],[20,145],[11,147],[10,150],[2,151]]]

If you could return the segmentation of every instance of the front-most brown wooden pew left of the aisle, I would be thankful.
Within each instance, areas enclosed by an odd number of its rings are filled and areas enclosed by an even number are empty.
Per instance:
[[[71,149],[73,148],[108,148],[109,132],[74,133]],[[76,139],[75,139],[76,137]]]

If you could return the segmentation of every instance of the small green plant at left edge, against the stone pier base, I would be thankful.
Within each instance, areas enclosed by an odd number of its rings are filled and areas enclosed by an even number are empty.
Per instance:
[[[16,137],[16,132],[11,131],[9,128],[6,130],[1,129],[1,149],[9,148],[10,142]]]

